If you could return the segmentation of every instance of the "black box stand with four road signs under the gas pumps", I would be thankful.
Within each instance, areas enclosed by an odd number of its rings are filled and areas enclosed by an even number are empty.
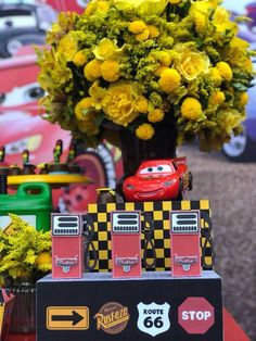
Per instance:
[[[221,279],[143,273],[37,282],[37,341],[222,341]]]

